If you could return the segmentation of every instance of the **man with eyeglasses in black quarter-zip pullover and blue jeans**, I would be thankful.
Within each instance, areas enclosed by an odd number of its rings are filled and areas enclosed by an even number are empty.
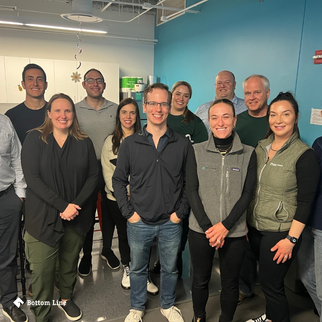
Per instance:
[[[131,309],[125,322],[142,321],[149,250],[155,237],[161,264],[161,313],[170,322],[183,322],[174,302],[182,219],[188,215],[189,207],[185,197],[185,168],[191,143],[166,124],[172,101],[168,89],[161,83],[145,89],[143,111],[147,113],[147,125],[123,140],[112,177],[116,201],[128,220],[131,249]]]

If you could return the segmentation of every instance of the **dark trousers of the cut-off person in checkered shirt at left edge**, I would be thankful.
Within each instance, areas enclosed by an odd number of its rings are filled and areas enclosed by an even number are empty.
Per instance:
[[[14,186],[0,192],[0,303],[4,308],[12,305],[18,296],[16,254],[22,206]]]

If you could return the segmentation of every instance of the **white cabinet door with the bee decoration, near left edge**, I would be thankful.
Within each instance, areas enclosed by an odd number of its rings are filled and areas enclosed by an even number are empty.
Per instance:
[[[29,64],[29,58],[7,57],[5,61],[5,87],[7,92],[7,103],[21,103],[26,98],[25,90],[20,91],[22,72]]]

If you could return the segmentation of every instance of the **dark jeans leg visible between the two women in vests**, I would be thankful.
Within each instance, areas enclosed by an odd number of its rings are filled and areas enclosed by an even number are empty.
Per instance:
[[[254,293],[254,287],[257,278],[257,260],[251,250],[249,242],[246,244],[246,253],[242,262],[242,269],[239,276],[239,290],[251,296]]]

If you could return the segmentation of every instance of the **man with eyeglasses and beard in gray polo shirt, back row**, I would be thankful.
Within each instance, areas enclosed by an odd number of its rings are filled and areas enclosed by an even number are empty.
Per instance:
[[[101,165],[101,153],[104,140],[107,136],[113,133],[115,129],[115,116],[117,113],[118,104],[111,102],[103,97],[106,84],[104,77],[97,69],[90,69],[84,75],[82,83],[86,90],[87,97],[75,104],[78,122],[81,131],[85,132],[93,142],[97,162],[99,167],[99,181],[96,189],[91,195],[93,224],[87,233],[83,245],[83,257],[78,266],[78,272],[82,276],[90,274],[92,269],[92,244],[93,232],[95,224],[96,202],[98,193],[101,195],[101,212],[102,212],[102,237],[103,249],[101,258],[107,261],[109,267],[113,270],[120,267],[120,262],[111,250],[112,238],[115,229],[115,224],[109,218],[109,208],[107,204],[107,196],[104,190],[105,182]],[[146,285],[146,284],[145,284]]]

